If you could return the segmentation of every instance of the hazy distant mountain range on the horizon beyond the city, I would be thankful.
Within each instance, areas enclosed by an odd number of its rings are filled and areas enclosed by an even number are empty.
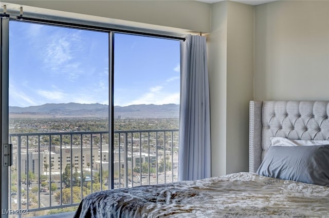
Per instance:
[[[42,117],[104,117],[108,114],[108,105],[102,104],[44,104],[30,107],[9,107],[9,113],[16,116]],[[127,117],[179,117],[179,105],[130,105],[115,106],[115,118]]]

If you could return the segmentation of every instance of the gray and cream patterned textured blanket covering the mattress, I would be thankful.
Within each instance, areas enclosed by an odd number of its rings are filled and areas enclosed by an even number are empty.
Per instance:
[[[329,217],[329,187],[233,173],[93,193],[78,217]]]

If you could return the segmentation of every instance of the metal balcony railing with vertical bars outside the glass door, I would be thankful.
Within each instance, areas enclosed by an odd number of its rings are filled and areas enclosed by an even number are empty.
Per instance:
[[[123,188],[177,181],[177,129],[115,131],[113,155],[108,136],[107,131],[10,134],[9,209],[25,209],[28,216],[65,212],[87,194],[111,189],[111,183]]]

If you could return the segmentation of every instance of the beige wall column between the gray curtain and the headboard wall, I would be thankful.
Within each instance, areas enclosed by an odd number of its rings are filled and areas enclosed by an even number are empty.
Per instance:
[[[208,36],[212,176],[248,171],[249,101],[253,99],[254,8],[212,6]]]

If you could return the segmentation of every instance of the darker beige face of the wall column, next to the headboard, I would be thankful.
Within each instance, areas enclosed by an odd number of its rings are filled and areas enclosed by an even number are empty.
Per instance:
[[[254,7],[229,2],[226,173],[248,171],[249,101],[253,100]]]

